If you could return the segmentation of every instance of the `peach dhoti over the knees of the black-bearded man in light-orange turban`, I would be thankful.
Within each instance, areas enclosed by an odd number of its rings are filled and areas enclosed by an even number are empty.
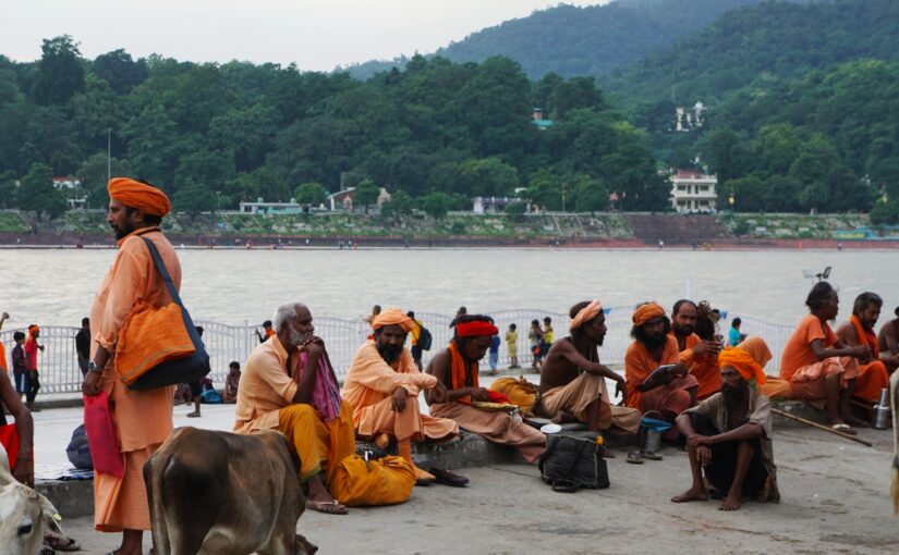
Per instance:
[[[448,418],[423,415],[418,397],[409,395],[402,412],[393,410],[393,399],[387,397],[379,403],[356,410],[356,432],[363,437],[374,437],[386,433],[397,441],[448,440],[459,434],[459,424]]]

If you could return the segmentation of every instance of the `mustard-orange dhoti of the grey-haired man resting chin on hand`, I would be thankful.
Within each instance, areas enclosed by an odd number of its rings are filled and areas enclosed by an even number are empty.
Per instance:
[[[287,436],[290,451],[300,457],[301,480],[324,470],[330,484],[337,465],[356,449],[353,412],[345,402],[340,404],[340,416],[327,422],[312,405],[283,407],[278,410],[277,430]]]

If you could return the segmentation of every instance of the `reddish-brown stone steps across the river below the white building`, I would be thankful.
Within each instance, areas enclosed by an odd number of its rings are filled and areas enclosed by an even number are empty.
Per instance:
[[[729,237],[727,230],[708,214],[633,214],[624,220],[634,238],[648,243],[703,243]]]

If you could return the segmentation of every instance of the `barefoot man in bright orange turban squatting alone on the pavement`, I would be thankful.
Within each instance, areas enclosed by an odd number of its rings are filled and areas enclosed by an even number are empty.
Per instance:
[[[703,472],[725,496],[722,510],[740,508],[743,496],[778,503],[772,412],[768,397],[756,392],[765,383],[762,367],[734,347],[718,357],[721,391],[678,417],[687,436],[693,484],[675,503],[705,501]]]

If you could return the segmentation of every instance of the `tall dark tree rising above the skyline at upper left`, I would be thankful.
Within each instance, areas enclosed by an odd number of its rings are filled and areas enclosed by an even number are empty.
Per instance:
[[[38,104],[64,104],[84,88],[84,67],[77,42],[69,35],[45,39],[37,63],[32,97]]]

